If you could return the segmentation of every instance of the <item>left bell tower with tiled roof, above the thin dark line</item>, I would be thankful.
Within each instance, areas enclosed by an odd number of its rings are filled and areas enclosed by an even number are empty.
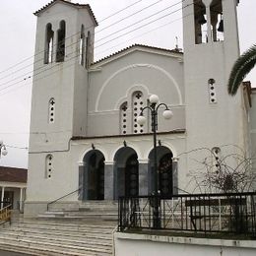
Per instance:
[[[87,131],[88,69],[96,18],[89,5],[55,0],[36,11],[31,151],[67,149]]]

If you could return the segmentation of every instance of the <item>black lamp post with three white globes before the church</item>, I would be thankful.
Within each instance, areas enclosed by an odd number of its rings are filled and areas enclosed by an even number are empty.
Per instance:
[[[153,228],[160,228],[160,203],[159,203],[159,171],[158,171],[158,156],[157,156],[157,130],[158,130],[158,111],[160,106],[164,106],[165,110],[163,111],[162,115],[164,119],[170,119],[172,117],[172,112],[168,108],[165,103],[159,103],[159,96],[152,95],[150,96],[150,105],[145,106],[137,118],[137,122],[140,125],[145,124],[146,117],[143,115],[145,109],[149,109],[151,112],[151,126],[153,132],[153,140],[154,140],[154,203],[153,203]],[[159,103],[159,104],[158,104]]]

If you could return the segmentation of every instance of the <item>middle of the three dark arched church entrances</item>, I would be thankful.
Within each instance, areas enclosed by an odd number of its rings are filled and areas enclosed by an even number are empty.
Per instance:
[[[136,152],[123,147],[114,157],[115,199],[139,195],[139,161]]]

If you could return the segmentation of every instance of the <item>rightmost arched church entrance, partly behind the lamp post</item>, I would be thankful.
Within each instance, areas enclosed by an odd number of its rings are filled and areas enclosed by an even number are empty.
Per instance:
[[[163,146],[157,147],[157,166],[159,175],[159,190],[162,196],[173,195],[173,172],[172,172],[172,153]],[[154,150],[149,155],[149,193],[154,192],[155,184],[154,170]]]

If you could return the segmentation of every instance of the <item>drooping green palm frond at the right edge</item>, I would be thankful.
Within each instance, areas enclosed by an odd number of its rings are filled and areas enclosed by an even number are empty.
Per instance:
[[[229,75],[227,92],[234,96],[246,75],[256,64],[256,44],[246,50],[234,63]]]

